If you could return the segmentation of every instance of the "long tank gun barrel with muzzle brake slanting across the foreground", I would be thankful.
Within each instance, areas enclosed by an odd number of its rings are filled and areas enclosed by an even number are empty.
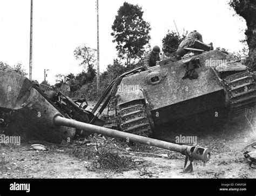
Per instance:
[[[211,156],[210,150],[204,147],[172,144],[166,141],[138,136],[135,134],[126,133],[122,131],[107,129],[105,127],[82,123],[80,121],[67,119],[60,116],[56,116],[53,119],[53,121],[55,125],[73,127],[80,130],[103,134],[109,137],[122,138],[122,139],[125,139],[126,141],[133,141],[140,144],[145,144],[145,145],[163,148],[170,151],[180,152],[181,154],[189,156],[194,160],[201,160],[206,162],[210,159],[210,156]]]

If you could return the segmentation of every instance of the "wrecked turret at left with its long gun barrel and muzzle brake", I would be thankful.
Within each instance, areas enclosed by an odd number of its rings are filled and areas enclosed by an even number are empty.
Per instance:
[[[78,105],[61,92],[46,86],[40,88],[17,73],[0,70],[0,80],[1,128],[7,133],[17,134],[22,129],[30,137],[36,136],[52,143],[71,142],[76,134],[83,132],[122,138],[184,154],[184,172],[193,170],[193,160],[201,160],[205,164],[211,157],[208,148],[172,144],[102,127],[103,121],[82,106],[84,100],[76,100],[80,102]],[[190,164],[186,167],[188,160]]]

